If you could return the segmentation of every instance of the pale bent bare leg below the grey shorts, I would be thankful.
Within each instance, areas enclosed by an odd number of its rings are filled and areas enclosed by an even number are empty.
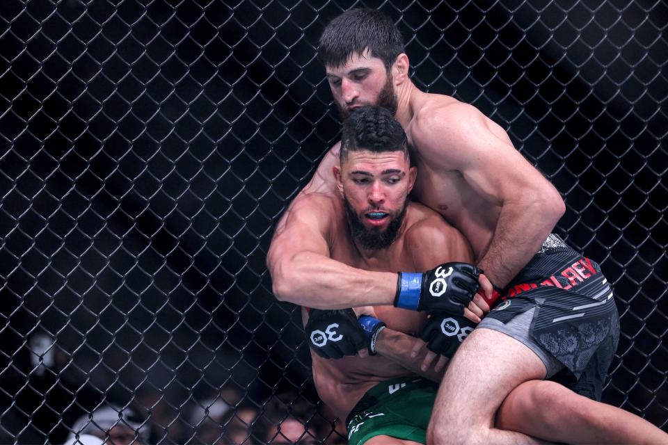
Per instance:
[[[545,365],[519,341],[478,328],[461,343],[443,377],[427,428],[428,444],[537,444],[538,439],[494,428],[504,399]]]

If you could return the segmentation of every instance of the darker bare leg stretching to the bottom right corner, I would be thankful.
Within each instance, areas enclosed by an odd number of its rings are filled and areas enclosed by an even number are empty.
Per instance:
[[[641,417],[545,380],[514,389],[496,427],[568,444],[668,444],[668,434]]]

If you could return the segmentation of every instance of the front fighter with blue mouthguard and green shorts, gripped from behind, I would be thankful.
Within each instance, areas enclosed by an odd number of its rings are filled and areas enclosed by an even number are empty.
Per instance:
[[[333,169],[333,176],[344,200],[330,193],[310,193],[296,201],[273,241],[270,264],[289,264],[276,255],[289,258],[309,252],[312,268],[302,269],[303,272],[312,273],[310,277],[319,284],[329,282],[335,288],[337,280],[355,281],[356,274],[382,275],[385,270],[423,270],[446,260],[470,261],[468,243],[456,229],[431,209],[407,202],[415,168],[407,159],[404,132],[389,111],[363,107],[353,112],[344,124],[342,140],[342,162]],[[438,275],[445,275],[438,270],[460,265],[436,267],[436,280]],[[319,275],[317,270],[329,277]],[[456,280],[449,280],[452,275],[456,275]],[[467,275],[452,272],[445,280],[448,285],[463,289],[476,282],[475,277]],[[341,286],[345,287],[344,282]],[[355,295],[328,296],[328,286],[323,286],[322,291],[324,296],[304,296],[302,304],[339,308],[363,304]],[[363,290],[353,293],[363,294]],[[318,393],[338,416],[347,418],[351,444],[424,443],[436,385],[415,374],[438,382],[445,360],[440,357],[433,370],[420,369],[420,360],[411,357],[411,350],[415,349],[413,345],[424,343],[401,332],[420,332],[431,350],[450,357],[472,330],[472,323],[461,315],[443,312],[425,323],[421,312],[389,306],[377,306],[374,311],[374,318],[360,317],[359,322],[351,309],[311,309],[308,318],[303,312],[304,321],[308,320],[305,333],[315,352],[313,376]],[[377,350],[379,356],[352,357],[363,348],[370,353]],[[541,391],[545,385],[555,388]],[[562,403],[552,413],[547,407],[555,397]],[[552,428],[550,439],[559,442],[571,437],[591,442],[592,437],[598,437],[594,433],[607,437],[609,425],[588,423],[589,419],[598,420],[605,412],[601,407],[606,405],[577,396],[561,385],[525,383],[511,391],[509,398],[527,401],[504,404],[499,412],[499,418],[513,423],[518,431],[535,429],[541,437]],[[620,419],[619,414],[637,419],[619,408],[610,408],[614,419],[626,420]],[[576,435],[557,428],[575,421],[589,430]],[[544,428],[539,428],[541,423]],[[530,437],[507,433],[514,435],[516,443],[536,443]]]

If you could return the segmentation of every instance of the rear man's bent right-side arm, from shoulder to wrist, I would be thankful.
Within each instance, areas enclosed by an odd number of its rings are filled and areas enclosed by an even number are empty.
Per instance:
[[[477,252],[477,265],[493,284],[505,286],[562,217],[559,192],[513,147],[501,127],[472,106],[420,111],[412,137],[431,163],[459,170],[490,205],[500,207],[491,244],[486,252]]]

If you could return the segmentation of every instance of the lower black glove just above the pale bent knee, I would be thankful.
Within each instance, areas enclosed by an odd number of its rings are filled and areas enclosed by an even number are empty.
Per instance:
[[[475,323],[459,315],[436,314],[424,323],[420,338],[434,353],[452,357],[466,336],[475,329]]]

